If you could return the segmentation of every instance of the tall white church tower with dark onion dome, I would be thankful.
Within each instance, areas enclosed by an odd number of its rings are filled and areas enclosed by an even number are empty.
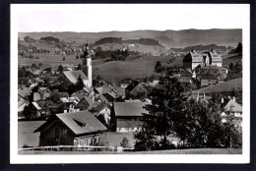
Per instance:
[[[89,53],[88,42],[86,44],[86,50],[84,51],[82,70],[83,70],[83,73],[85,73],[85,75],[88,78],[87,86],[91,87],[93,85],[93,69],[92,69],[92,58]]]

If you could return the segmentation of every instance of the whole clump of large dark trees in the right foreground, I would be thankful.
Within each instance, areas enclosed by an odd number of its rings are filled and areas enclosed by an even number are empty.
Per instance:
[[[144,129],[134,135],[137,150],[169,149],[174,147],[169,136],[180,139],[179,147],[222,147],[241,145],[241,130],[233,117],[222,122],[221,101],[213,97],[208,102],[187,99],[176,78],[160,78],[160,85],[148,97],[151,105],[145,117]],[[160,141],[157,141],[160,137]]]

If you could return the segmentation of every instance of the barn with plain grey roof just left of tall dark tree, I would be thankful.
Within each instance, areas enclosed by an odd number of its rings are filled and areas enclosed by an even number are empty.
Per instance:
[[[116,119],[116,132],[135,132],[143,127],[144,108],[149,102],[114,102],[113,112]]]

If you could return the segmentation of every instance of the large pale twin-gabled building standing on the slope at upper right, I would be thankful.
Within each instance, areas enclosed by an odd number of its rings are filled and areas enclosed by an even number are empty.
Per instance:
[[[183,58],[183,67],[186,69],[194,70],[197,66],[223,66],[223,58],[214,49],[203,52],[202,54],[192,49]]]

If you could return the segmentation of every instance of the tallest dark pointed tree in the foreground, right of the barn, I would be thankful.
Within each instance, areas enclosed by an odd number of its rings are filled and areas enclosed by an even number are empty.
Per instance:
[[[167,145],[167,136],[173,132],[173,117],[182,110],[181,104],[185,100],[183,91],[176,78],[164,76],[160,77],[158,88],[148,95],[152,104],[145,107],[150,114],[146,117],[146,123],[160,135],[163,146]]]

